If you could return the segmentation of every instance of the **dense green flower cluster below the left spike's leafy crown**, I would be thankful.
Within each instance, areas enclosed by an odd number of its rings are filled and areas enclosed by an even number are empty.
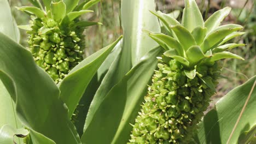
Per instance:
[[[74,23],[60,26],[48,17],[30,21],[28,44],[34,60],[56,83],[83,60],[83,29],[74,27]]]

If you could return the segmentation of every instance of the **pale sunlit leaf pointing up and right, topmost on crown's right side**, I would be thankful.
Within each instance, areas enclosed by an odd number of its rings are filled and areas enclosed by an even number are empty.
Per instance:
[[[207,34],[217,28],[220,23],[229,15],[231,8],[225,7],[213,13],[206,21],[205,27],[208,29]]]

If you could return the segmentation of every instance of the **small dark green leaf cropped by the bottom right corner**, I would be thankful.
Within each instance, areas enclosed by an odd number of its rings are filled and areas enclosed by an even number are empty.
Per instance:
[[[242,133],[238,138],[238,143],[242,144],[242,143],[251,142],[253,140],[253,137],[255,137],[255,134],[256,134],[256,125],[254,125],[254,127],[251,128],[250,130]]]

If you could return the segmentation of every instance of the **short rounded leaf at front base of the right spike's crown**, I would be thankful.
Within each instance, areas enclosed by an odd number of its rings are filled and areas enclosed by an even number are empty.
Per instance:
[[[187,54],[187,58],[188,58],[188,61],[190,62],[190,64],[197,63],[202,58],[205,57],[201,48],[197,45],[189,47],[186,54]]]

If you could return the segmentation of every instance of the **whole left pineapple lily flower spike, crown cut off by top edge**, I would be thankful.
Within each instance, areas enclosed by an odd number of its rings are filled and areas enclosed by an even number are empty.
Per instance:
[[[31,15],[30,25],[19,26],[29,34],[29,49],[39,67],[59,83],[68,72],[83,60],[86,27],[99,22],[80,21],[82,14],[100,0],[85,1],[30,1],[35,7],[19,7]]]

